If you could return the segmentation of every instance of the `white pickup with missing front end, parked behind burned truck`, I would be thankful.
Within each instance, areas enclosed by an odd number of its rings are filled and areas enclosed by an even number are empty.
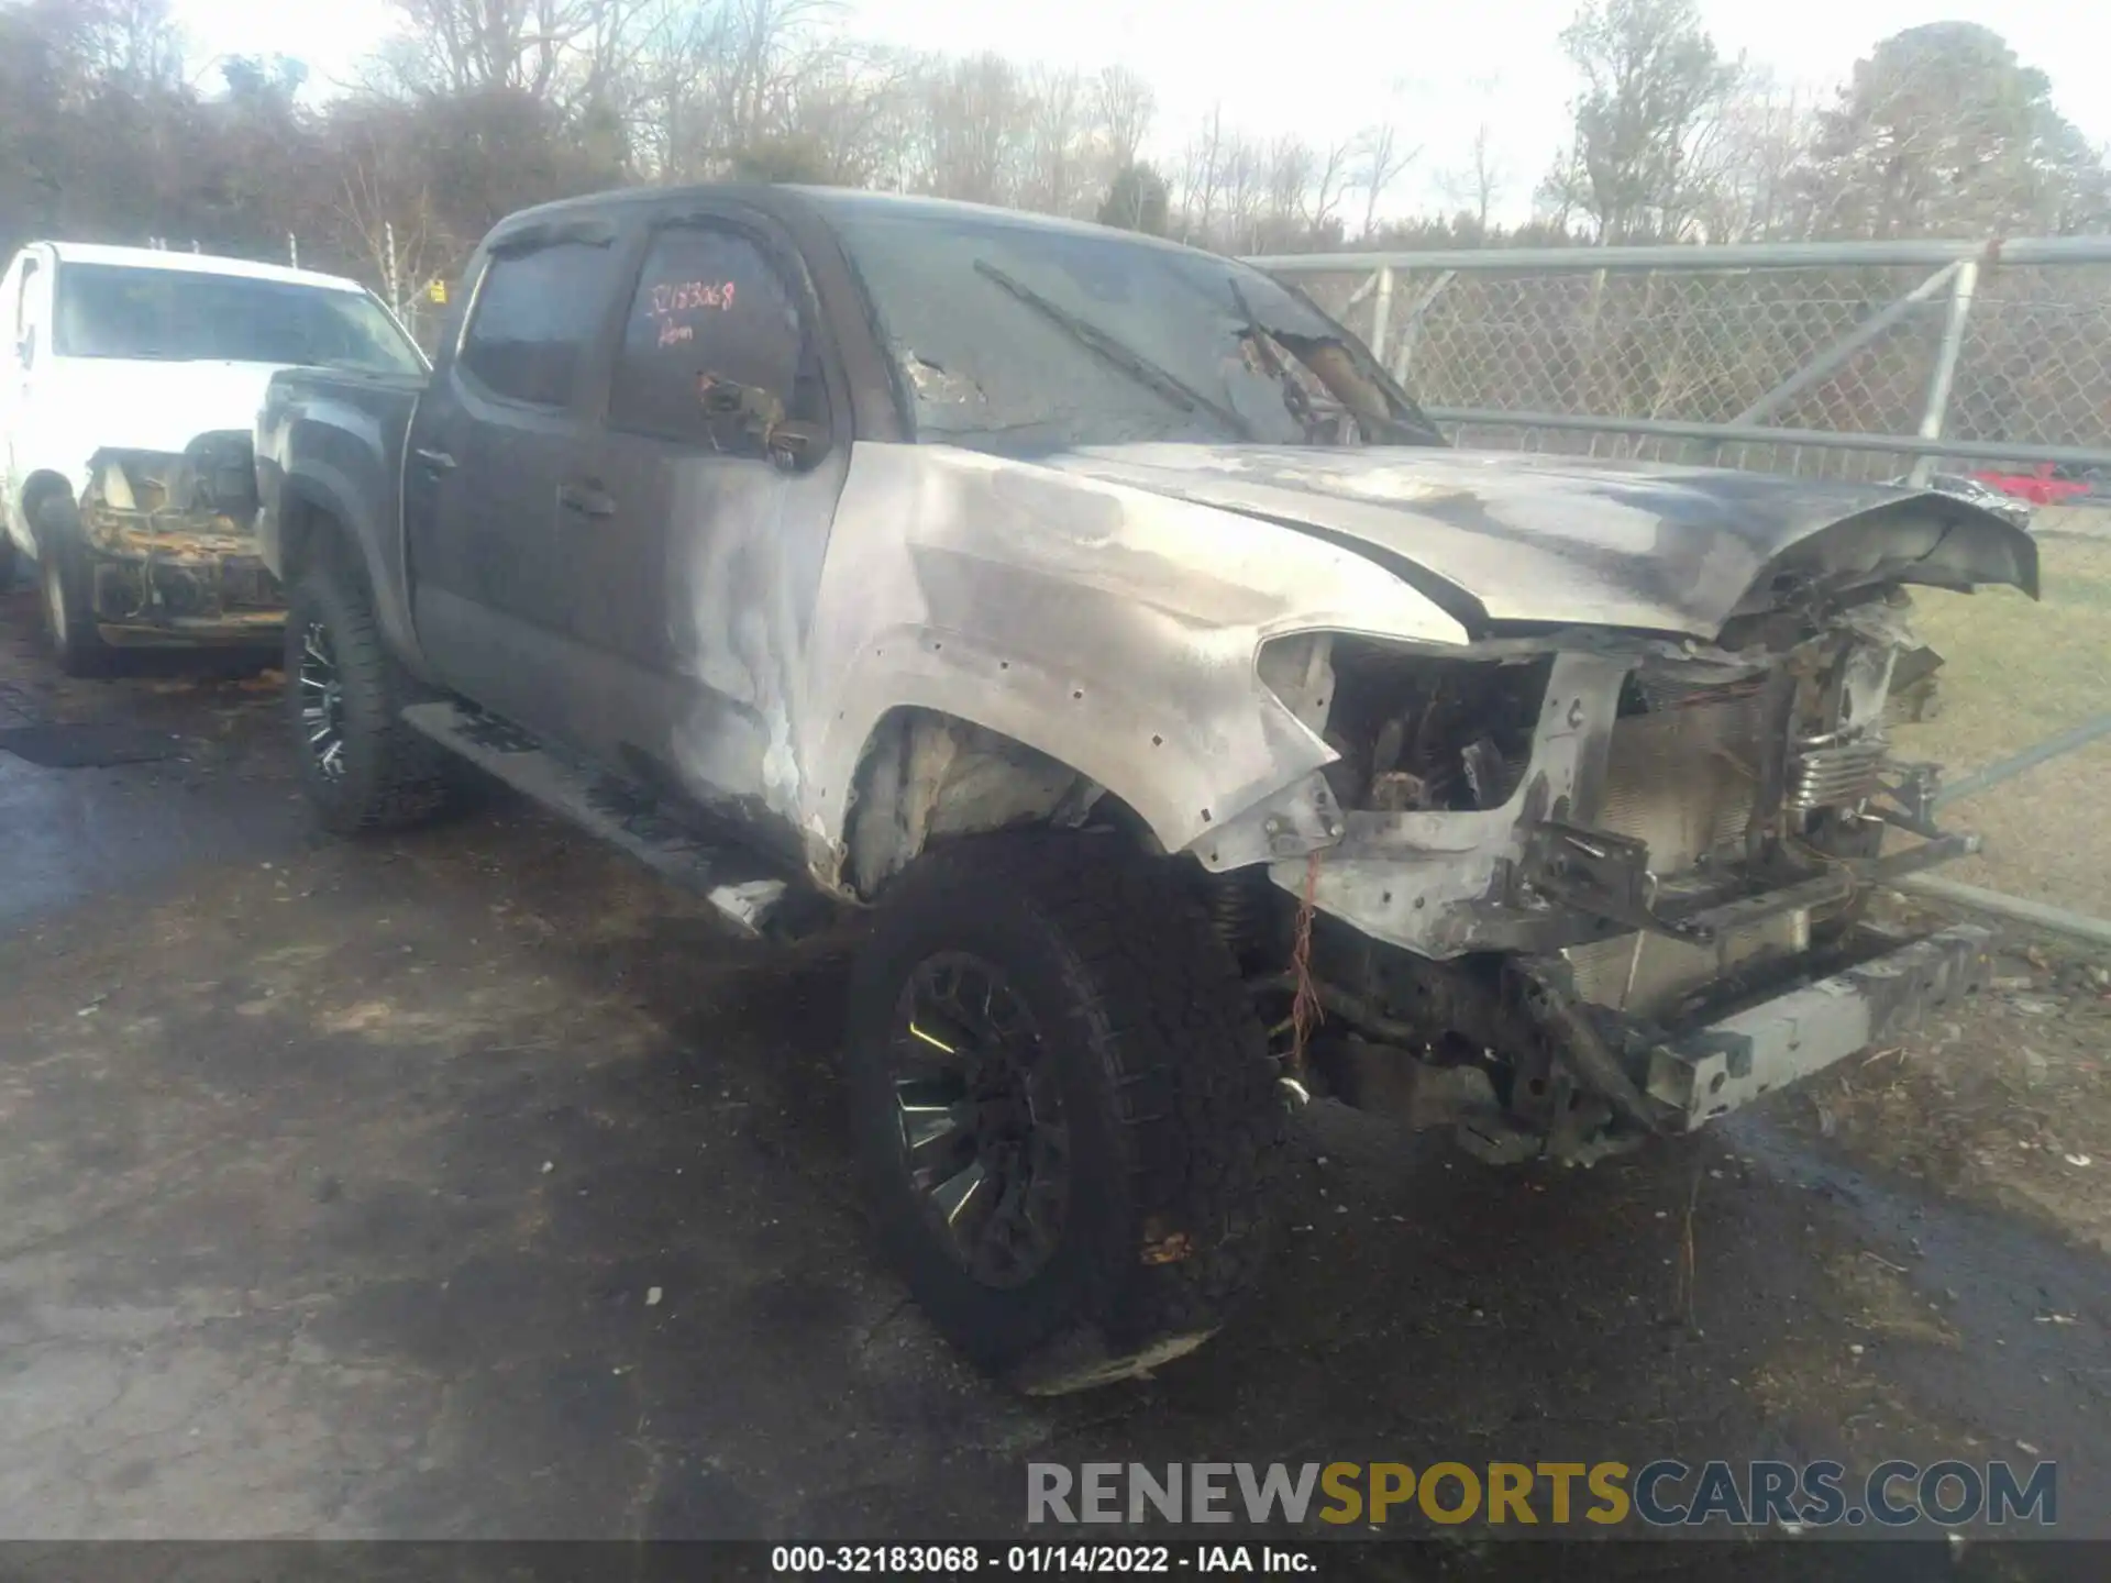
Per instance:
[[[141,247],[34,243],[0,283],[6,534],[36,561],[61,667],[127,646],[277,646],[251,437],[281,367],[420,374],[367,291],[329,274]]]

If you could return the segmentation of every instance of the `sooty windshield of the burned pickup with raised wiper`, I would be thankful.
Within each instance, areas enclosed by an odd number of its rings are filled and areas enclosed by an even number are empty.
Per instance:
[[[1368,348],[1229,258],[828,194],[925,441],[1442,445]]]

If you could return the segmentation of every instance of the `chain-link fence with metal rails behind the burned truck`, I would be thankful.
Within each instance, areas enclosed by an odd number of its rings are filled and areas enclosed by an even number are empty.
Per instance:
[[[1948,483],[2031,500],[2043,602],[1923,593],[1946,656],[1902,756],[1986,840],[1944,870],[2111,918],[2111,239],[1256,260],[1461,445]],[[1984,783],[1978,770],[2008,770]],[[2111,922],[2098,924],[2111,939]]]

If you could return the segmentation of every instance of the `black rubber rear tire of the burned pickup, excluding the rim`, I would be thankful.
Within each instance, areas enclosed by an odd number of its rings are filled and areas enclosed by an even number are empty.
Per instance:
[[[365,737],[372,773],[363,791],[348,800],[319,794],[315,773],[300,741],[300,646],[306,633],[306,606],[319,604],[329,631],[331,652],[344,686],[346,739],[357,730]],[[346,568],[338,555],[319,555],[293,580],[285,621],[285,688],[287,713],[302,751],[302,777],[323,823],[338,834],[380,834],[431,823],[460,800],[462,768],[448,751],[403,722],[403,705],[416,703],[422,690],[388,652],[365,576]],[[355,718],[357,716],[357,718]],[[348,777],[350,779],[350,777]],[[338,783],[344,789],[344,783]]]

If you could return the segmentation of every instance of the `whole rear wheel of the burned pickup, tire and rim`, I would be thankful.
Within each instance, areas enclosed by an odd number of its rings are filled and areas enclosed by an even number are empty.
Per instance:
[[[418,690],[382,644],[365,578],[327,555],[287,599],[285,692],[302,787],[325,827],[405,829],[456,804],[445,749],[403,724]]]

